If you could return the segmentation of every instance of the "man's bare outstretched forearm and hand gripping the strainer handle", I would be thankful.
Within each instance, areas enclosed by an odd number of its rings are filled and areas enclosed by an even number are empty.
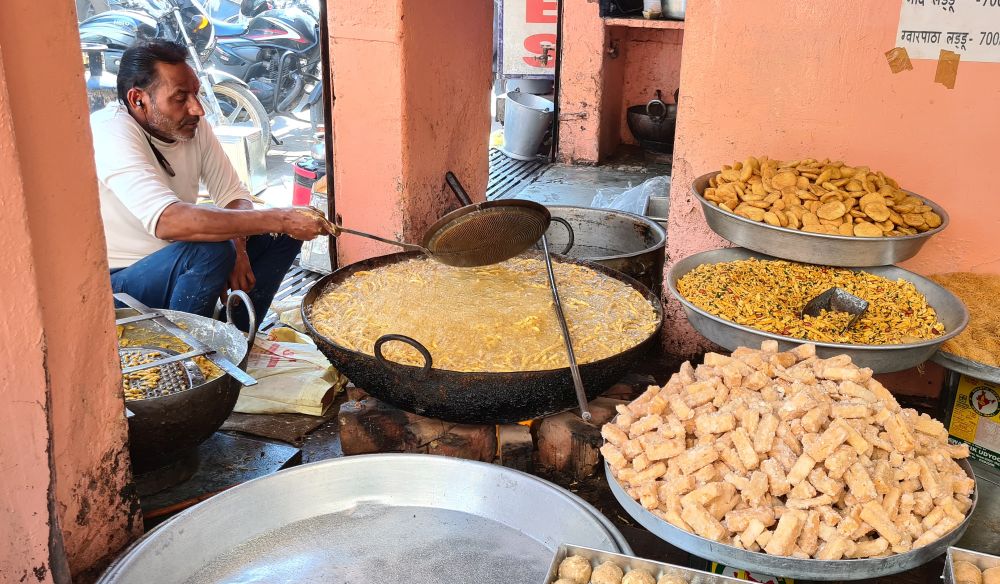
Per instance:
[[[308,241],[325,230],[321,218],[294,208],[219,209],[190,203],[173,203],[156,223],[156,237],[168,241],[225,241],[261,233]]]

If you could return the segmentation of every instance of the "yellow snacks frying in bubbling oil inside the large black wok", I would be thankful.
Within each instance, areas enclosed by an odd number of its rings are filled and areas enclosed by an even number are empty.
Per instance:
[[[648,300],[627,284],[576,264],[554,264],[579,363],[630,349],[658,325]],[[414,259],[354,273],[320,295],[309,315],[323,336],[372,355],[390,333],[427,347],[438,369],[542,371],[567,367],[545,264],[520,257],[480,268]],[[409,345],[389,342],[387,359],[422,365]]]

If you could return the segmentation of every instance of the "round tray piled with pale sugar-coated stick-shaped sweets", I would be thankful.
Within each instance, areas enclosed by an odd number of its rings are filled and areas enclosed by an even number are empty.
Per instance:
[[[611,490],[639,523],[765,574],[902,572],[943,554],[976,507],[967,446],[813,345],[708,353],[619,406],[602,434]]]

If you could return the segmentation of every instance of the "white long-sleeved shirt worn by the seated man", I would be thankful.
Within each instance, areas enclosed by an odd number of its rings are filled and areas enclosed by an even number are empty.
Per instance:
[[[157,162],[146,132],[113,103],[90,116],[94,134],[101,217],[108,244],[108,264],[125,268],[171,242],[156,237],[160,214],[173,203],[195,203],[204,183],[217,207],[250,200],[211,126],[202,118],[193,139],[166,143],[152,138],[176,176]]]

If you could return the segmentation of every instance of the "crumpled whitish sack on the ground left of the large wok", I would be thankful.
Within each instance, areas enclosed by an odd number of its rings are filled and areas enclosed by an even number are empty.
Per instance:
[[[243,414],[321,416],[347,384],[308,337],[289,328],[254,340],[247,373],[257,385],[240,391],[233,411]]]

